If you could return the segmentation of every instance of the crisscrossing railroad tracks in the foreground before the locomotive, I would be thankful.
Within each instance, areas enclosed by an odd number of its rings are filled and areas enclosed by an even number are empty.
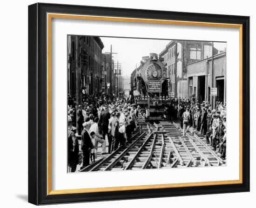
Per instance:
[[[188,132],[171,122],[139,121],[136,132],[125,147],[119,147],[84,171],[128,169],[164,169],[220,166],[225,162],[211,150],[200,135]]]

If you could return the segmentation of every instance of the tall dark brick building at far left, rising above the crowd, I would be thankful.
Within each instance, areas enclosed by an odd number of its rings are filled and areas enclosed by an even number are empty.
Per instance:
[[[71,97],[81,103],[81,91],[94,94],[101,92],[102,49],[104,45],[99,37],[67,37],[67,89]]]

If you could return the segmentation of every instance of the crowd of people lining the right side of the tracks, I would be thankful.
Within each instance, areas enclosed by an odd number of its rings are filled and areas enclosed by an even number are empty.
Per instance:
[[[212,146],[213,150],[222,159],[225,159],[227,142],[226,103],[217,101],[213,109],[211,104],[205,101],[200,104],[198,101],[183,100],[176,107],[183,136],[189,130],[197,130],[199,134],[205,136],[207,143]]]

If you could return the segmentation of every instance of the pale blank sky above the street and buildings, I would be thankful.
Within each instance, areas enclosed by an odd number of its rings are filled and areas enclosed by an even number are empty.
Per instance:
[[[102,53],[110,52],[112,44],[112,52],[117,53],[112,55],[115,65],[118,61],[118,64],[121,64],[123,75],[130,76],[136,65],[140,65],[142,56],[149,56],[149,53],[159,54],[171,40],[101,37],[101,41],[104,44]],[[215,42],[214,47],[224,50],[226,43]]]

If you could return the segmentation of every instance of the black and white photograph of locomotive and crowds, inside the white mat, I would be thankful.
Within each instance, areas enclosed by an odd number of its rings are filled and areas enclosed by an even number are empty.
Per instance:
[[[67,172],[226,166],[226,53],[67,35]]]

